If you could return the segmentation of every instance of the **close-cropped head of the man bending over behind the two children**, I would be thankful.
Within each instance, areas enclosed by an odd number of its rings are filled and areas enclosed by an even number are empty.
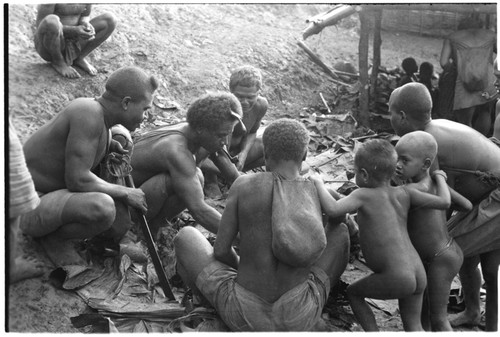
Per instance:
[[[394,89],[389,98],[391,124],[399,136],[430,122],[431,110],[431,94],[422,83],[407,83]]]

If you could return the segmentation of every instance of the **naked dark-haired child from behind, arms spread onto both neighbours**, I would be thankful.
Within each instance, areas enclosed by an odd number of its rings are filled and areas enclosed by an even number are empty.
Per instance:
[[[391,186],[397,154],[386,140],[370,140],[354,157],[356,184],[360,187],[338,201],[319,176],[311,177],[325,213],[336,217],[358,212],[359,240],[373,274],[352,283],[347,296],[352,311],[365,331],[378,331],[365,298],[398,299],[405,331],[422,331],[420,312],[426,287],[425,270],[406,228],[410,207],[450,207],[443,171],[435,171],[438,195],[404,186]]]

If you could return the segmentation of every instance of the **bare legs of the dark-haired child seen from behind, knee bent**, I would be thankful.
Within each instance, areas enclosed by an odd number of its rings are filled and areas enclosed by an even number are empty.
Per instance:
[[[420,312],[426,282],[425,272],[423,267],[421,268],[423,275],[401,270],[374,273],[354,282],[347,288],[351,309],[365,331],[378,331],[373,312],[365,302],[366,297],[377,299],[406,298],[406,300],[400,301],[401,318],[403,324],[406,322],[405,330],[407,326],[412,330],[423,330],[420,323]],[[408,297],[408,295],[412,296]]]

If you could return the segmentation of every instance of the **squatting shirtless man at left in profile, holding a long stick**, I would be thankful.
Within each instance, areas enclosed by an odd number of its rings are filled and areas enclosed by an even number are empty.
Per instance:
[[[21,229],[40,238],[56,265],[84,263],[75,241],[102,234],[119,242],[131,225],[127,206],[147,211],[142,190],[108,183],[97,170],[110,151],[124,151],[111,127],[139,127],[157,87],[142,69],[120,68],[100,97],[73,100],[24,144],[41,202],[22,217]]]

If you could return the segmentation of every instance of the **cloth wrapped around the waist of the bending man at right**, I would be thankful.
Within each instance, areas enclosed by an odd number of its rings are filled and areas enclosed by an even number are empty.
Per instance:
[[[458,212],[447,223],[464,257],[500,249],[500,187],[469,212]]]

